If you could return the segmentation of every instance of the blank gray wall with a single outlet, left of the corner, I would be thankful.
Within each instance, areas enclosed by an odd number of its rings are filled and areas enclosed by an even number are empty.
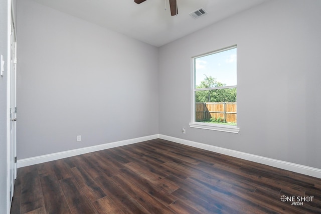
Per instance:
[[[156,47],[30,0],[18,37],[18,159],[158,133]]]

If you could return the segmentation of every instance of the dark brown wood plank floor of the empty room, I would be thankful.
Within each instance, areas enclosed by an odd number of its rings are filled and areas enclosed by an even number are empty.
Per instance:
[[[321,179],[156,139],[19,168],[11,213],[321,213]]]

